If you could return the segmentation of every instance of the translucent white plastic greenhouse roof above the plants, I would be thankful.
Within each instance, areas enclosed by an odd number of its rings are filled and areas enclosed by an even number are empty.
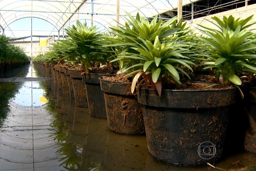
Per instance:
[[[188,4],[197,0],[183,0]],[[173,8],[178,0],[119,0],[120,23],[127,11],[131,15],[153,17]],[[58,30],[79,19],[91,19],[106,28],[116,25],[117,0],[0,0],[0,26],[5,29],[12,22],[27,17],[40,18]]]

